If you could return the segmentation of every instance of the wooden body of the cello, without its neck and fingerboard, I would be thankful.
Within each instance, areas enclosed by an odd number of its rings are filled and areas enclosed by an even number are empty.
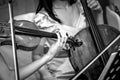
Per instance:
[[[115,28],[107,25],[99,25],[98,29],[102,36],[105,46],[107,46],[113,39],[115,39],[120,32]],[[87,27],[80,31],[75,39],[81,40],[83,44],[80,47],[75,47],[75,50],[71,49],[71,63],[73,64],[76,72],[81,71],[92,59],[94,59],[99,52],[96,50],[94,40],[90,34],[90,27]],[[108,54],[110,54],[116,50],[120,46],[120,40],[118,40],[112,47],[108,49]],[[105,47],[104,47],[105,48]],[[84,74],[87,75],[89,80],[97,80],[101,74],[103,68],[101,67],[101,63],[99,60],[95,61]]]

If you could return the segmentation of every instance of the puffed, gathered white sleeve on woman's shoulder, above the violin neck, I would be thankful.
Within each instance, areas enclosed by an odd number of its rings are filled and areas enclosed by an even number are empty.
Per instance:
[[[41,11],[36,14],[34,18],[35,24],[38,26],[39,29],[51,32],[56,28],[59,24],[55,20],[53,20],[45,11]]]

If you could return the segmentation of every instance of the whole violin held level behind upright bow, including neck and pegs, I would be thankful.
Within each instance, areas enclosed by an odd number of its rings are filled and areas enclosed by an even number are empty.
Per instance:
[[[14,27],[17,49],[32,51],[39,44],[41,37],[57,38],[55,33],[42,31],[30,21],[14,21]],[[68,38],[67,43],[70,44],[71,47],[82,44],[81,41],[74,40],[72,37]],[[12,45],[9,23],[0,23],[0,46],[4,45]]]

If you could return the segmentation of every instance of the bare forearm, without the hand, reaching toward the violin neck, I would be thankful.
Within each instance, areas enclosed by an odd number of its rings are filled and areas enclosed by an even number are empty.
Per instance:
[[[29,64],[28,66],[25,66],[20,69],[20,79],[23,80],[33,74],[35,71],[37,71],[39,68],[41,68],[44,64],[49,62],[52,59],[50,55],[45,55],[41,59],[36,60]]]

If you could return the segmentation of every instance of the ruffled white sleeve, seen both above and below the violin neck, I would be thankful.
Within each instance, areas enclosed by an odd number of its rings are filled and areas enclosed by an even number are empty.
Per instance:
[[[45,12],[38,13],[34,18],[34,22],[39,30],[46,32],[55,33],[56,31],[60,30],[61,26],[61,24],[50,18]],[[53,38],[46,38],[44,46],[50,47],[55,41],[56,40]]]

